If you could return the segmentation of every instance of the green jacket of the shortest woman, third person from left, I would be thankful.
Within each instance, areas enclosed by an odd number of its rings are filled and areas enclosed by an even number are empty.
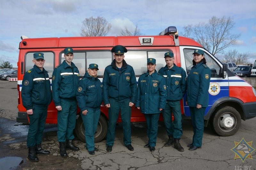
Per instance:
[[[100,109],[102,102],[102,85],[98,77],[92,77],[86,71],[84,78],[78,83],[76,100],[81,111]]]

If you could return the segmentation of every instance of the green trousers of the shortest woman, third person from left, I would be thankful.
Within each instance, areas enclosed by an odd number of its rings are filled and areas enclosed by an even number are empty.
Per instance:
[[[100,119],[100,109],[91,110],[87,109],[87,114],[83,115],[81,112],[81,116],[84,123],[84,134],[86,141],[87,150],[94,151],[94,134],[96,132],[98,122]]]

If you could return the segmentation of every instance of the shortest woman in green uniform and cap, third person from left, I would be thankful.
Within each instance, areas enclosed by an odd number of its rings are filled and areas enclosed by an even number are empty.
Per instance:
[[[97,76],[98,70],[97,64],[90,64],[84,78],[79,81],[76,91],[76,100],[84,123],[86,149],[90,155],[94,155],[94,151],[99,151],[94,147],[94,134],[98,126],[102,102],[102,85]]]

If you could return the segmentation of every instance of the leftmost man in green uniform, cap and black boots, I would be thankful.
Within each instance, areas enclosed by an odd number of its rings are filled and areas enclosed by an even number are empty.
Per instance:
[[[47,108],[52,101],[51,82],[44,66],[44,53],[34,53],[33,69],[28,70],[22,80],[21,99],[29,117],[27,138],[28,159],[37,162],[38,155],[49,155],[41,147],[42,134],[47,117]]]

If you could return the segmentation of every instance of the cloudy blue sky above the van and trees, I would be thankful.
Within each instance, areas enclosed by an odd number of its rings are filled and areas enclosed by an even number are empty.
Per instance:
[[[212,16],[231,16],[232,33],[241,33],[236,49],[256,59],[256,0],[0,0],[0,58],[17,66],[20,36],[29,38],[80,36],[82,21],[105,17],[109,36],[136,24],[145,35],[168,26],[179,32],[188,24],[208,22]]]

